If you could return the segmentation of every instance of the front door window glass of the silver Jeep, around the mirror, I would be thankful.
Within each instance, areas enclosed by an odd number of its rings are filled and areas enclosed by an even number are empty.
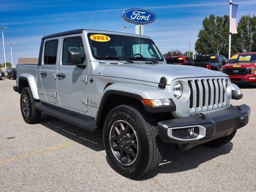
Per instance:
[[[79,49],[82,52],[82,60],[85,61],[85,49],[83,46],[83,40],[81,37],[67,38],[63,42],[63,51],[62,51],[62,65],[75,65],[69,64],[68,62],[68,51],[70,49]]]

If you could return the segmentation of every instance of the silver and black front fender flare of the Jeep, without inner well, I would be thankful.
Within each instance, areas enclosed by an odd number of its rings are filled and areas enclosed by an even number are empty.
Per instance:
[[[107,102],[107,98],[111,95],[120,95],[137,99],[141,102],[145,110],[151,113],[172,112],[176,110],[176,106],[167,90],[139,84],[114,83],[108,86],[102,93],[101,103],[99,105],[99,110],[96,115],[96,121],[100,120],[101,114],[103,114],[103,108],[105,106],[105,103]],[[143,98],[170,99],[172,105],[157,107],[147,106],[142,102]]]

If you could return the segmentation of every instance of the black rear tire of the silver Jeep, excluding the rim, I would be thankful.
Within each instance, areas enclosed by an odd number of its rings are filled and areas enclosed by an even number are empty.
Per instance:
[[[22,98],[24,95],[26,96],[26,98],[28,100],[28,108],[29,108],[28,116],[25,116],[25,114],[22,110]],[[20,110],[21,110],[21,114],[22,114],[24,121],[28,124],[38,123],[40,121],[40,117],[41,117],[41,111],[34,108],[32,106],[32,102],[34,102],[34,98],[33,98],[30,88],[29,87],[23,88],[21,91],[21,94],[20,94]]]

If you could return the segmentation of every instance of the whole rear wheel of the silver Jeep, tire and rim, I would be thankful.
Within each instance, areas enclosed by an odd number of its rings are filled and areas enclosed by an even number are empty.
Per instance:
[[[24,121],[28,124],[39,122],[41,117],[41,111],[32,106],[33,101],[30,88],[23,88],[20,94],[20,110]]]

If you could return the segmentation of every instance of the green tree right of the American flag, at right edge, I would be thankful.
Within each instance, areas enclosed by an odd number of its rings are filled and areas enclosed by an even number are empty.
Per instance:
[[[234,35],[232,35],[234,36]],[[238,34],[232,39],[233,53],[256,52],[256,16],[243,15],[238,22]]]

